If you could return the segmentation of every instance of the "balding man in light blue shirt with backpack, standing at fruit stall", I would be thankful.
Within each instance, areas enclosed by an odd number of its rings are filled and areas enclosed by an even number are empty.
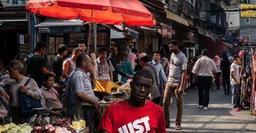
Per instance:
[[[87,73],[90,73],[91,77]],[[91,58],[88,55],[80,54],[76,59],[76,69],[71,73],[66,84],[69,115],[73,117],[81,107],[89,132],[96,130],[94,113],[98,107],[98,100],[92,90],[92,84],[95,84],[94,76]]]

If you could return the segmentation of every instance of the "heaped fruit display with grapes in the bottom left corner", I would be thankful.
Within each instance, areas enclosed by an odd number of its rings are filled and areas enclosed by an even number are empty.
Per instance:
[[[88,132],[86,121],[75,120],[72,124],[68,119],[57,118],[55,116],[48,117],[51,108],[35,108],[37,111],[45,114],[35,114],[28,123],[14,124],[9,123],[0,125],[0,131],[6,133],[73,133],[73,132]]]

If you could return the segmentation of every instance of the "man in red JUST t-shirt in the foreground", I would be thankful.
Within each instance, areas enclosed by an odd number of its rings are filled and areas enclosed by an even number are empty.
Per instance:
[[[166,132],[163,108],[147,100],[153,82],[149,71],[137,71],[131,81],[130,98],[105,110],[99,132]]]

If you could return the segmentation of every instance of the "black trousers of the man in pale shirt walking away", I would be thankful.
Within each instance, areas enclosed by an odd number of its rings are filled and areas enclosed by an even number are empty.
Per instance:
[[[208,107],[209,104],[209,91],[212,83],[211,76],[197,76],[198,81],[198,96],[199,96],[199,105]]]

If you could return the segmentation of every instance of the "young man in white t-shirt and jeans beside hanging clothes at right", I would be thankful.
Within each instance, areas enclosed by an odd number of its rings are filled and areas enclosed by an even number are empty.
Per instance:
[[[238,87],[240,84],[239,68],[240,58],[238,55],[233,55],[234,62],[230,66],[230,84],[232,91],[232,106],[234,112],[239,112],[241,108],[238,107]]]

